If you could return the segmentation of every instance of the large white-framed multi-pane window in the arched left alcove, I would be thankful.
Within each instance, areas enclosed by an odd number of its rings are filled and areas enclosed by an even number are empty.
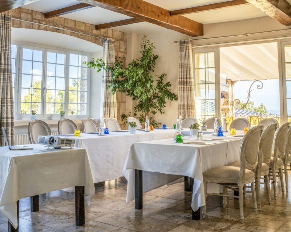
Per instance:
[[[19,59],[17,45],[12,45],[12,72],[16,77],[13,87],[18,90],[15,94],[18,99],[15,101],[16,118],[29,117],[31,110],[43,119],[59,118],[60,111],[65,111],[69,118],[87,116],[88,69],[83,62],[88,56],[79,52],[18,46]],[[17,59],[19,72],[15,66]]]

